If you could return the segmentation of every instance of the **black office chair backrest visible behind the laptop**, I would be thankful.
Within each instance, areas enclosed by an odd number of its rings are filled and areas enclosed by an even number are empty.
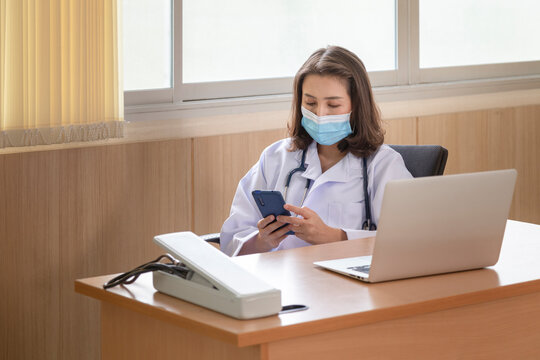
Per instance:
[[[448,150],[439,145],[390,145],[403,157],[413,177],[442,175]]]

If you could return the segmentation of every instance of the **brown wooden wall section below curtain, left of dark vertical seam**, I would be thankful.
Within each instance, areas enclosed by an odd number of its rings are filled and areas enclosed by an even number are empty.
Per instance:
[[[75,294],[74,280],[132,269],[163,252],[154,235],[189,229],[191,142],[0,159],[0,274],[9,294],[0,354],[98,359],[99,305]]]

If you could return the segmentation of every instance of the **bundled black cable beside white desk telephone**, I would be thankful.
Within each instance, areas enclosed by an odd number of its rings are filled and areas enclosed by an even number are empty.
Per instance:
[[[160,261],[164,258],[167,258],[170,262],[161,263]],[[169,254],[165,254],[160,255],[157,259],[153,261],[149,261],[145,264],[139,265],[133,270],[116,276],[115,278],[103,284],[103,288],[109,289],[111,287],[121,284],[132,284],[141,274],[151,271],[163,271],[171,275],[180,276],[184,279],[187,278],[191,272],[191,270],[184,266],[180,261],[176,260]]]

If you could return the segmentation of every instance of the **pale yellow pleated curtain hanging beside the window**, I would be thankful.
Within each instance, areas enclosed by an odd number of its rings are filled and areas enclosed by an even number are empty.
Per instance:
[[[121,0],[0,0],[0,148],[123,134]]]

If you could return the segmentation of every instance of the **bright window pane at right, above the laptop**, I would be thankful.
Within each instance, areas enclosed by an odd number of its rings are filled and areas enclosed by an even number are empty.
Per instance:
[[[540,3],[420,0],[420,82],[538,73]]]

